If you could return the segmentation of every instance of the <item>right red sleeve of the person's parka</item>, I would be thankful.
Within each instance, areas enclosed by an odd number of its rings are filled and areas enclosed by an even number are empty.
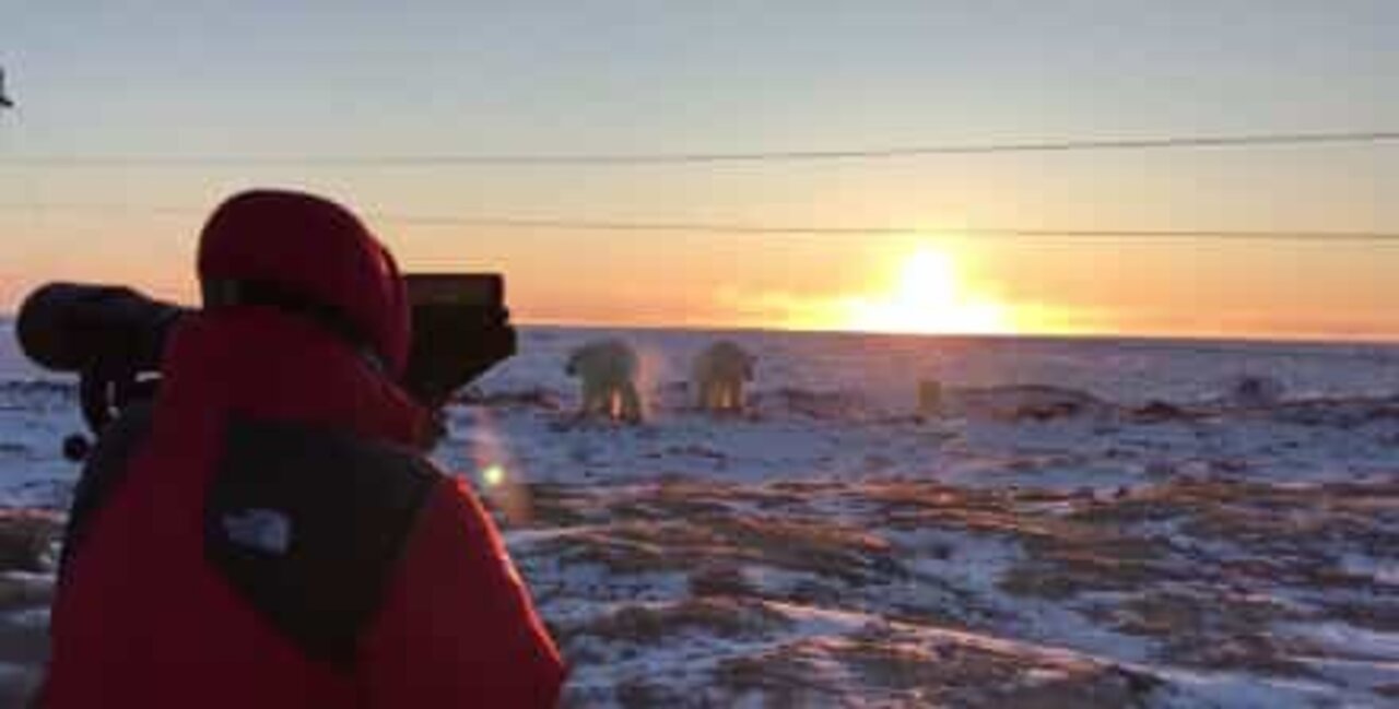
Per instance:
[[[365,706],[551,708],[564,664],[495,526],[442,482],[361,646]]]

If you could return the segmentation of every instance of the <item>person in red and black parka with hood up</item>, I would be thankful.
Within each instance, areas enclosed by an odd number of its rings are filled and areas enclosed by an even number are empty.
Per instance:
[[[418,452],[410,309],[348,210],[238,194],[204,308],[76,489],[39,706],[544,708],[564,666],[478,501]]]

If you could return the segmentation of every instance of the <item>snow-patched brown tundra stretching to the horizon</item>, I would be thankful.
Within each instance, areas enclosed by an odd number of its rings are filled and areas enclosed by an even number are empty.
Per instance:
[[[574,415],[562,362],[602,334],[642,354],[644,425]],[[450,411],[436,457],[497,512],[568,706],[1399,705],[1399,347],[727,333],[758,372],[716,420],[684,387],[716,337],[529,329]],[[66,505],[76,408],[0,324],[13,537]],[[0,701],[52,587],[14,557]]]

